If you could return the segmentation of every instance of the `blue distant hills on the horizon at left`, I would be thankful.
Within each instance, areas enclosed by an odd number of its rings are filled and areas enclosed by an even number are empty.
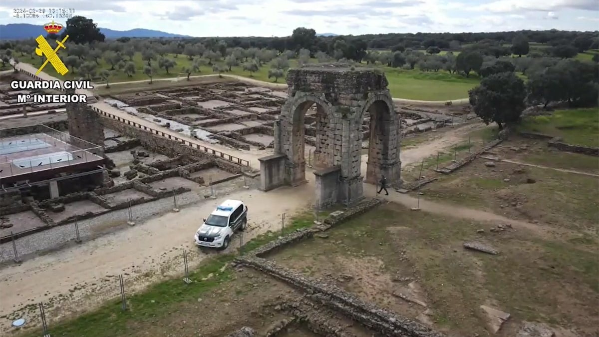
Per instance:
[[[113,29],[100,28],[100,32],[106,38],[119,37],[190,37],[187,35],[171,34],[161,31],[153,31],[152,29],[136,28],[130,31],[114,31]],[[0,40],[24,40],[27,38],[36,38],[38,35],[46,36],[47,32],[40,25],[31,25],[29,23],[10,23],[8,25],[0,25]]]

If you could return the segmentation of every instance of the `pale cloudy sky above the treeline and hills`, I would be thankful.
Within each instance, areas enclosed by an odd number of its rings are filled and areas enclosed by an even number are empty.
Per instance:
[[[14,8],[23,4],[74,8],[76,15],[104,28],[147,28],[195,37],[287,36],[301,26],[317,33],[353,35],[599,29],[597,0],[2,0],[0,22],[47,22],[14,18]]]

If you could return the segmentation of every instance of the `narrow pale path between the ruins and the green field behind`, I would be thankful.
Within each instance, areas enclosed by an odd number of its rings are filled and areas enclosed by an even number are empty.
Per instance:
[[[33,65],[27,64],[27,63],[19,63],[17,65],[17,68],[22,68],[23,70],[27,70],[30,73],[37,72],[37,68],[35,68]],[[43,76],[43,74],[45,76]],[[187,80],[186,74],[180,73],[180,75],[181,76],[177,76],[177,77],[167,77],[165,79],[153,79],[152,82],[164,82],[164,81],[179,82],[179,81]],[[52,79],[52,80],[58,80],[58,79],[56,79],[56,77],[52,77],[52,76],[44,73],[43,71],[40,73],[39,76],[42,77],[43,79],[46,79],[46,77],[48,77],[49,79]],[[249,85],[262,86],[262,87],[270,88],[273,90],[286,90],[287,89],[287,85],[285,83],[265,82],[265,81],[261,81],[261,80],[252,79],[251,77],[244,77],[244,76],[231,75],[231,74],[222,74],[220,76],[218,74],[189,76],[190,79],[196,79],[196,78],[201,78],[201,77],[204,77],[204,78],[226,77],[228,79],[235,79],[240,82],[247,83]],[[149,82],[149,80],[114,82],[114,83],[110,83],[110,85],[115,86],[115,85],[126,85],[126,84],[131,84],[131,83],[144,83],[144,82]],[[94,86],[96,86],[96,85],[94,85]],[[90,96],[93,96],[93,94],[90,93]],[[429,104],[429,105],[434,105],[434,106],[437,106],[437,105],[444,106],[447,103],[447,101],[419,101],[419,100],[407,100],[406,98],[393,98],[393,101],[394,101],[394,103],[400,103],[400,104],[415,104],[415,105]],[[462,104],[467,101],[468,101],[468,98],[460,98],[459,100],[452,100],[451,102],[452,102],[452,104]]]

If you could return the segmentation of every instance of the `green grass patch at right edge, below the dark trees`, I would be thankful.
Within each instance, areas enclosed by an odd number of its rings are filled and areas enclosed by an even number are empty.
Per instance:
[[[550,116],[525,118],[519,128],[561,137],[568,144],[599,146],[599,109],[556,110]]]

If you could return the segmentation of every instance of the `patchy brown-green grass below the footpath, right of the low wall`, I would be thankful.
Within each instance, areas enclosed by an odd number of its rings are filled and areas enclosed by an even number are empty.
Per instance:
[[[398,314],[428,317],[450,336],[488,336],[488,318],[479,309],[485,304],[512,315],[502,328],[510,332],[525,320],[594,329],[580,315],[597,312],[597,242],[541,239],[516,225],[492,233],[492,227],[389,203],[327,231],[326,239],[298,243],[269,259],[309,277],[349,275],[337,285]],[[469,240],[500,255],[467,251],[462,243]],[[556,289],[564,296],[556,297]]]

